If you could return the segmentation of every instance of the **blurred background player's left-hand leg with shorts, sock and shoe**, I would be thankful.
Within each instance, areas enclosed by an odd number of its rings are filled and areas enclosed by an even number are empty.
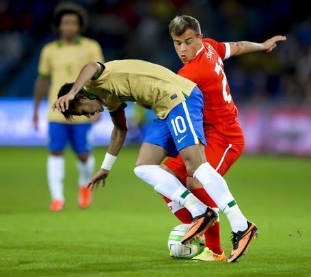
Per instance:
[[[68,141],[66,124],[49,122],[50,155],[47,161],[47,178],[51,193],[51,211],[61,211],[64,208],[64,148]]]

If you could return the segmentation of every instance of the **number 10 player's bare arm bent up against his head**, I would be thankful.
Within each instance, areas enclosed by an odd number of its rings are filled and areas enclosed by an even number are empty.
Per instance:
[[[52,106],[53,111],[55,109],[58,109],[62,112],[68,109],[69,102],[75,98],[81,88],[83,88],[83,85],[85,85],[87,81],[90,81],[92,77],[97,75],[100,70],[101,66],[97,62],[89,62],[88,64],[83,66],[79,73],[79,76],[77,77],[77,80],[75,81],[74,85],[72,85],[72,89],[70,90],[70,92],[55,101]]]

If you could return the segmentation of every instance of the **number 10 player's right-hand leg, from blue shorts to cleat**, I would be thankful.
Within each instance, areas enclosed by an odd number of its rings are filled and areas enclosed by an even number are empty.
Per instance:
[[[256,234],[257,227],[247,222],[243,213],[241,213],[239,207],[236,205],[228,185],[224,178],[218,174],[215,169],[206,162],[204,149],[203,156],[200,153],[200,147],[198,139],[201,142],[205,142],[202,127],[202,116],[198,113],[198,106],[202,99],[202,94],[198,93],[200,90],[193,90],[187,101],[182,103],[182,106],[178,105],[172,109],[169,116],[167,117],[167,123],[170,126],[172,124],[172,135],[176,144],[176,148],[179,150],[182,159],[185,162],[187,172],[192,174],[193,177],[198,179],[203,184],[204,189],[216,202],[217,206],[221,211],[224,211],[232,230],[234,232],[232,255],[230,255],[229,262],[235,261],[247,248],[248,243],[252,240]],[[180,107],[183,108],[180,109]],[[188,110],[188,107],[190,111]],[[201,110],[202,111],[202,110]],[[178,123],[179,120],[179,123]],[[177,127],[178,124],[178,127]],[[180,124],[180,125],[179,125]],[[187,133],[187,128],[191,129],[191,134]],[[187,135],[185,135],[187,133]],[[195,144],[189,146],[189,142],[194,140]],[[188,232],[182,242],[192,239],[191,233]],[[246,238],[244,240],[244,238]],[[242,241],[243,240],[243,241]],[[246,241],[246,243],[244,243]]]

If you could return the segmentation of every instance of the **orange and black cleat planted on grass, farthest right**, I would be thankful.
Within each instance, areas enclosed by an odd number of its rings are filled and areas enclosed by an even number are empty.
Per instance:
[[[247,221],[247,229],[237,233],[232,232],[232,250],[228,263],[237,261],[249,248],[249,243],[258,236],[257,226]]]

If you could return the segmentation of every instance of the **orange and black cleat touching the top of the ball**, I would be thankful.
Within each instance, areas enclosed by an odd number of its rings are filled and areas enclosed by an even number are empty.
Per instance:
[[[185,244],[195,239],[195,237],[200,237],[200,235],[205,233],[208,228],[213,226],[217,220],[218,214],[210,207],[207,207],[205,213],[193,218],[193,221],[191,222],[186,235],[180,240],[181,243]]]

